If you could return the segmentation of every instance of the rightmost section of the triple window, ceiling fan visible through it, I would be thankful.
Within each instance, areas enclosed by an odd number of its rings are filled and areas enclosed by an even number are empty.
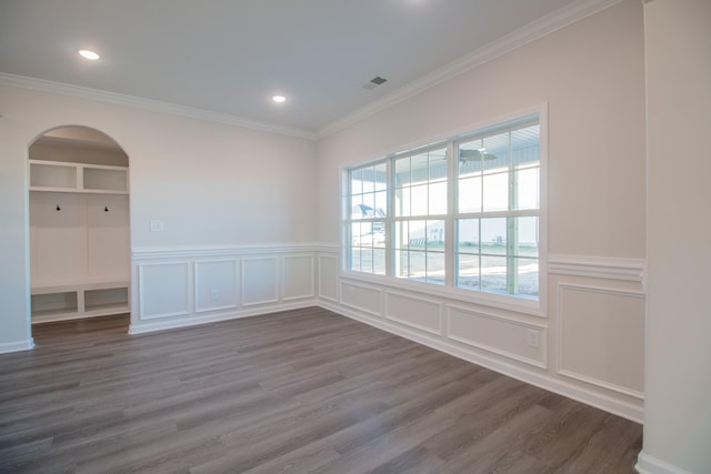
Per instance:
[[[538,296],[540,127],[455,143],[457,286]]]

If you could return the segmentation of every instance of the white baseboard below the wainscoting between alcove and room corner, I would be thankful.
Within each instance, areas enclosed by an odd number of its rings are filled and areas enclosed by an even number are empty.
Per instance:
[[[166,320],[151,320],[131,322],[129,334],[144,334],[156,331],[172,330],[178,327],[189,327],[200,324],[217,323],[220,321],[238,320],[241,317],[259,316],[262,314],[276,313],[279,311],[301,310],[303,307],[317,306],[316,301],[306,300],[296,303],[274,304],[260,307],[250,307],[249,310],[230,311],[226,313],[211,313],[200,316],[176,317]]]

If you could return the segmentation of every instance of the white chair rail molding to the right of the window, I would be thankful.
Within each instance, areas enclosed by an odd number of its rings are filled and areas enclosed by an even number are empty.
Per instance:
[[[555,254],[548,256],[548,271],[550,274],[643,283],[647,261]]]

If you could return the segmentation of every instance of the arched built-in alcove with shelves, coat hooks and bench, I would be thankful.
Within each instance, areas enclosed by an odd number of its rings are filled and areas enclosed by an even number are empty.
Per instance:
[[[106,133],[81,125],[48,130],[28,155],[33,331],[128,314],[128,155]]]

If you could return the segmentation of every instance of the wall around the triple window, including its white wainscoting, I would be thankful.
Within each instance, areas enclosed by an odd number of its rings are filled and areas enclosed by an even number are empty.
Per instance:
[[[328,276],[339,281],[331,306],[641,421],[643,46],[642,4],[628,0],[318,143],[318,239],[333,245],[323,263],[336,272],[343,167],[547,104],[548,301],[540,311],[352,273]],[[543,341],[539,350],[527,344],[529,330]]]

